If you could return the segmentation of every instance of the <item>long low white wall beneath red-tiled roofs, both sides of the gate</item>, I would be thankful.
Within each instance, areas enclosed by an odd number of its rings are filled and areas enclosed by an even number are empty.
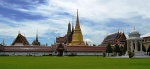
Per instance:
[[[102,56],[103,52],[63,52],[63,55],[77,55],[77,56]],[[57,55],[57,52],[0,52],[0,55],[8,56],[43,56],[43,55]]]

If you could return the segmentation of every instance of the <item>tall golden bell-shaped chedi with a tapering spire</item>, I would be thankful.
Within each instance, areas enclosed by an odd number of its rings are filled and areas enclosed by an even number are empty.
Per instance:
[[[83,35],[82,31],[80,29],[80,22],[79,22],[79,17],[78,17],[78,9],[77,9],[77,19],[76,19],[76,26],[74,30],[74,34],[72,36],[72,41],[69,45],[77,45],[77,46],[85,46],[85,43],[83,41]]]

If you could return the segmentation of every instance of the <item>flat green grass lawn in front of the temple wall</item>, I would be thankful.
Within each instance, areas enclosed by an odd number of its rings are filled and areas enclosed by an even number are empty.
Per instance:
[[[150,58],[0,56],[0,69],[149,69]]]

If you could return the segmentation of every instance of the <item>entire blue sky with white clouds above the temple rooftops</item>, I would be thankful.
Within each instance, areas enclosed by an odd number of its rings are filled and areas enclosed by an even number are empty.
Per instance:
[[[150,0],[0,0],[0,42],[10,45],[18,31],[29,43],[38,30],[41,44],[50,45],[64,36],[67,24],[75,24],[76,11],[84,40],[100,44],[108,34],[135,27],[150,32]],[[150,35],[150,34],[147,34]]]

